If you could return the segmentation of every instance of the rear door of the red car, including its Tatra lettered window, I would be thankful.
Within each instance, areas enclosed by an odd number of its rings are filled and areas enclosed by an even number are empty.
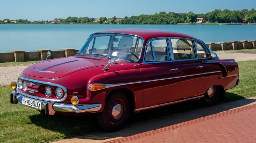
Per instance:
[[[192,40],[171,39],[173,56],[179,73],[179,99],[203,93],[204,67],[197,58]]]

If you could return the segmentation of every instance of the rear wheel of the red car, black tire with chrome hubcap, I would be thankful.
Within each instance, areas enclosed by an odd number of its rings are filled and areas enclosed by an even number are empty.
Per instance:
[[[217,103],[219,96],[219,88],[218,86],[209,87],[202,99],[202,102],[205,106],[212,106]]]

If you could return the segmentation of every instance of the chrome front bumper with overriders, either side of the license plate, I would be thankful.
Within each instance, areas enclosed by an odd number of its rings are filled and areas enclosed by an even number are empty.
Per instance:
[[[22,95],[23,97],[26,97]],[[27,97],[28,98],[28,97]],[[17,104],[21,100],[21,95],[13,90],[11,93],[10,102]],[[67,103],[57,103],[42,101],[42,109],[45,110],[46,114],[53,115],[55,112],[71,112],[71,113],[89,113],[96,112],[101,109],[101,104],[67,104]]]

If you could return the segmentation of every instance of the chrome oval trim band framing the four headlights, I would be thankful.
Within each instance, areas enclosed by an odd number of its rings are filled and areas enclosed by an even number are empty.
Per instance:
[[[28,80],[28,81],[41,83],[41,84],[45,84],[45,85],[50,85],[50,86],[56,86],[56,87],[60,87],[64,90],[64,96],[61,99],[48,99],[48,98],[43,98],[43,97],[32,96],[32,95],[29,95],[27,93],[23,93],[23,92],[17,90],[18,93],[23,95],[23,96],[26,96],[26,97],[29,97],[29,98],[32,98],[32,99],[41,100],[41,101],[53,101],[53,102],[62,102],[67,98],[68,90],[67,90],[66,87],[64,87],[62,85],[58,85],[58,84],[51,83],[51,82],[44,82],[44,81],[34,80],[34,79],[30,79],[30,78],[24,78],[24,77],[21,77],[21,76],[19,76],[19,79],[22,79],[22,80],[25,80],[25,81]],[[30,89],[28,89],[28,90],[30,90]]]

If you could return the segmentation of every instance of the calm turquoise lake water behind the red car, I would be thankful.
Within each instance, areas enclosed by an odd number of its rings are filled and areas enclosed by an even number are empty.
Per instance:
[[[175,31],[215,43],[256,39],[256,25],[0,24],[0,53],[62,48],[79,50],[92,33],[118,28]]]

